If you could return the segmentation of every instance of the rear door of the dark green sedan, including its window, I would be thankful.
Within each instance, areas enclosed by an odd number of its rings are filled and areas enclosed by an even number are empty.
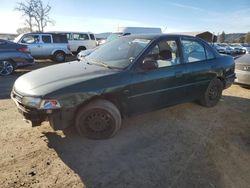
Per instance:
[[[187,97],[199,99],[209,82],[216,77],[215,55],[201,41],[195,38],[181,39],[183,59],[187,70]]]

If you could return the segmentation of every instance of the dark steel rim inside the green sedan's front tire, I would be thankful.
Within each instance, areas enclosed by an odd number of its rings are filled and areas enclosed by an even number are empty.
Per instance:
[[[94,110],[84,119],[84,125],[91,132],[105,132],[112,128],[114,119],[104,110]]]

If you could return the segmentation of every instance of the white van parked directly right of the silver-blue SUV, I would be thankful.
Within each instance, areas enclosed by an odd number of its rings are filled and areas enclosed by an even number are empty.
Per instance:
[[[95,35],[90,32],[56,32],[67,35],[71,52],[79,53],[82,50],[95,48],[97,45]]]

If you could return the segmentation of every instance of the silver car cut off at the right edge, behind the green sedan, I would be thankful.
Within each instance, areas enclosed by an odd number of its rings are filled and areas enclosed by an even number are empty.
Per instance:
[[[235,82],[250,86],[250,54],[245,54],[235,60]]]

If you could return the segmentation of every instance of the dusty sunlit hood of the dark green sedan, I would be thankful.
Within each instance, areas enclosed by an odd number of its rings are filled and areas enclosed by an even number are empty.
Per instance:
[[[115,69],[72,61],[37,69],[19,77],[14,90],[23,96],[43,96],[58,89],[93,78],[115,74]]]

